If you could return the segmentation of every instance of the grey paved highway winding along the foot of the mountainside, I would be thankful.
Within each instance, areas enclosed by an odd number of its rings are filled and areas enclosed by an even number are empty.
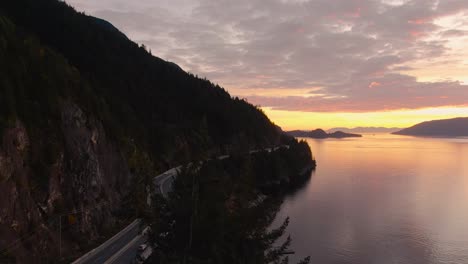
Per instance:
[[[280,148],[288,148],[289,146],[283,145],[274,148],[266,148],[264,150],[271,152]],[[259,152],[261,150],[251,150],[249,154]],[[219,160],[229,158],[229,155],[219,156]],[[189,164],[189,166],[191,163]],[[168,193],[172,188],[177,173],[182,166],[169,169],[153,178],[153,186],[157,193],[167,198]],[[130,225],[125,227],[122,231],[114,235],[112,238],[101,244],[99,247],[89,251],[79,259],[75,260],[72,264],[129,264],[135,259],[138,246],[147,241],[146,235],[141,235],[140,230],[141,219],[136,219]]]

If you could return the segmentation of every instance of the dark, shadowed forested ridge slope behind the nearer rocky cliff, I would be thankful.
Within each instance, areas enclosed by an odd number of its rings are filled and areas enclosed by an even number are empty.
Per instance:
[[[279,140],[278,129],[257,108],[152,56],[102,20],[57,0],[0,5],[14,23],[78,69],[99,98],[99,118],[116,139],[130,136],[155,155],[177,159]]]

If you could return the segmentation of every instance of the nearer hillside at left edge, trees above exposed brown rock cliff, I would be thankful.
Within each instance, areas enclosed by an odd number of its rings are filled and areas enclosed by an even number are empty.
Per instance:
[[[72,255],[120,225],[109,216],[133,190],[137,155],[105,132],[79,71],[5,16],[0,84],[0,262],[49,263],[60,241]]]

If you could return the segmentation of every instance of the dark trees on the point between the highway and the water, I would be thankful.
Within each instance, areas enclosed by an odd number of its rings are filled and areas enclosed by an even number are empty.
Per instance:
[[[289,147],[184,168],[169,199],[155,197],[152,263],[288,263],[288,219],[271,224],[315,168],[306,142]]]

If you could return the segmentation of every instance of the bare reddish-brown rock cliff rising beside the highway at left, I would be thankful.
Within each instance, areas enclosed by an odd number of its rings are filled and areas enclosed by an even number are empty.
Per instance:
[[[127,163],[101,123],[73,103],[63,103],[61,109],[60,138],[44,135],[33,142],[20,120],[3,134],[0,248],[7,249],[3,258],[51,261],[58,255],[60,219],[62,232],[68,234],[62,241],[65,255],[78,242],[73,241],[74,234],[96,239],[103,227],[114,224],[111,212],[128,189]],[[44,157],[47,144],[57,145],[56,153],[47,154],[50,157]],[[46,166],[38,165],[47,159]],[[15,243],[18,237],[27,239]]]

